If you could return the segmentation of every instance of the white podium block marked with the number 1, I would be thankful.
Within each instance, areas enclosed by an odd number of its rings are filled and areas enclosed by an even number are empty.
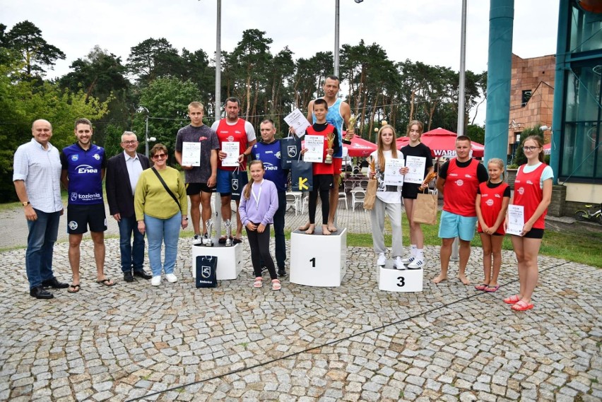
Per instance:
[[[318,227],[319,226],[319,227]],[[347,229],[324,236],[321,225],[313,235],[290,233],[290,282],[297,285],[341,286],[347,268]]]

